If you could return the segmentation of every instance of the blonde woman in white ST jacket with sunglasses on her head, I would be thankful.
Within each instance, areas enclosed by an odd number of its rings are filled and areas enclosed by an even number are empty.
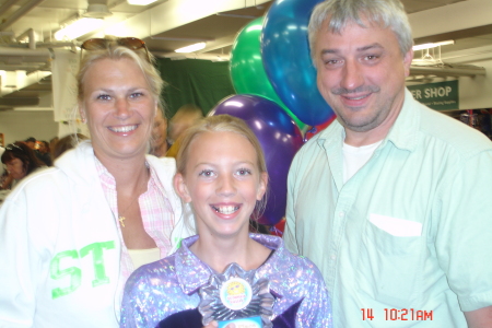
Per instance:
[[[0,327],[116,328],[130,273],[194,234],[174,159],[145,155],[163,86],[145,44],[82,49],[78,109],[92,138],[0,208]]]

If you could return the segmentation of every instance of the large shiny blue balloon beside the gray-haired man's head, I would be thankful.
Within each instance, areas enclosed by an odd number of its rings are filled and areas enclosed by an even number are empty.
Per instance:
[[[261,33],[261,58],[270,82],[291,112],[309,126],[335,116],[316,85],[309,56],[307,25],[320,0],[277,0]]]

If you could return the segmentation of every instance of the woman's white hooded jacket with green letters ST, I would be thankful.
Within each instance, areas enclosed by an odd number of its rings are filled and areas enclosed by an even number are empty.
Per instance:
[[[94,159],[91,143],[81,143],[1,206],[0,327],[118,327],[121,245]],[[147,162],[175,211],[171,254],[194,231],[173,189],[174,159]]]

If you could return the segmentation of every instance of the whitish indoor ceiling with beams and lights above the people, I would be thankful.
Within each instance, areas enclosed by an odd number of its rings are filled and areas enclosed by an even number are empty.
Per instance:
[[[449,51],[475,51],[492,45],[492,19],[480,26],[456,23],[456,17],[443,16],[446,8],[465,5],[473,11],[477,3],[491,0],[402,0],[414,30],[415,44],[454,39],[452,46],[443,46],[442,56]],[[248,22],[266,13],[273,1],[268,0],[157,0],[149,5],[130,5],[127,0],[0,0],[0,70],[25,71],[27,74],[50,71],[50,49],[75,46],[90,37],[103,37],[107,32],[136,36],[145,40],[149,49],[157,57],[174,59],[227,59],[236,34]],[[459,4],[459,2],[462,2]],[[468,4],[469,3],[469,4]],[[91,7],[92,5],[92,7]],[[54,37],[62,24],[87,14],[87,9],[107,5],[112,13],[104,19],[104,26],[97,32],[73,40],[56,40]],[[482,4],[483,5],[488,5]],[[480,7],[478,15],[483,15]],[[427,20],[425,13],[435,13],[435,27],[417,26],[417,22]],[[442,13],[442,14],[441,14]],[[89,12],[97,15],[97,12]],[[412,20],[415,14],[415,20]],[[453,14],[453,12],[450,13]],[[472,13],[471,13],[472,14]],[[489,12],[490,16],[491,12]],[[415,33],[415,30],[417,33]],[[120,36],[122,36],[120,35]],[[180,55],[175,49],[206,42],[203,50]],[[23,102],[50,92],[50,75],[33,79],[35,83],[11,92],[2,90],[0,109],[17,106],[33,106]],[[2,84],[3,85],[3,84]],[[14,87],[14,85],[10,85]],[[25,105],[22,105],[25,104]]]

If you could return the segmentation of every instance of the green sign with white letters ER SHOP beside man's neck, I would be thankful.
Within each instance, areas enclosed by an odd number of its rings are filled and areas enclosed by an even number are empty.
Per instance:
[[[459,109],[458,80],[408,85],[415,101],[436,110]]]

